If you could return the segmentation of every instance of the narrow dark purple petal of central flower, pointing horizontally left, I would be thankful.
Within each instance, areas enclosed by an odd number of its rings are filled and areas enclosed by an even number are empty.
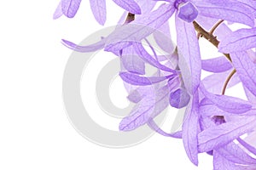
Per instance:
[[[139,85],[139,86],[147,86],[157,82],[165,81],[168,78],[173,77],[140,77],[137,74],[132,74],[130,72],[120,72],[119,76],[123,79],[123,81],[128,82],[132,85]]]

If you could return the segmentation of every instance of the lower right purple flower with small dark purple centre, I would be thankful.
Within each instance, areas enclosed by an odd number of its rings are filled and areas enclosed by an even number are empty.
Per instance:
[[[256,126],[256,111],[251,109],[252,105],[241,99],[209,94],[203,86],[201,91],[206,98],[201,101],[199,110],[202,131],[198,134],[198,150],[212,153],[214,169],[254,169],[256,159],[248,152],[255,154],[255,149],[239,138]],[[221,99],[217,102],[214,98],[223,98],[225,102]],[[247,151],[235,144],[235,139]]]

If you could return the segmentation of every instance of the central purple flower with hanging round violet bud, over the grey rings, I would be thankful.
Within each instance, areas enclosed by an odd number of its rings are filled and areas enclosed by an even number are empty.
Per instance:
[[[137,44],[137,54],[143,54],[148,58],[160,59],[159,56],[150,56],[141,44]],[[153,48],[154,50],[154,48]],[[175,58],[176,54],[172,55]],[[144,58],[144,57],[143,57]],[[166,61],[163,57],[161,61]],[[173,61],[173,62],[172,62]],[[137,74],[122,71],[119,76],[127,83],[138,86],[131,91],[128,99],[137,105],[132,109],[130,116],[125,117],[119,124],[119,129],[122,131],[133,130],[143,124],[147,123],[149,127],[153,128],[157,133],[173,138],[181,138],[182,133],[166,133],[154,123],[154,117],[165,110],[166,107],[172,105],[176,108],[181,108],[188,105],[190,96],[183,87],[183,81],[178,76],[179,71],[174,71],[172,68],[177,67],[177,60],[167,59],[166,65],[170,67],[163,67],[157,61],[151,62],[159,71],[155,73],[154,77],[142,77]],[[172,66],[171,66],[172,65]],[[169,102],[168,102],[169,100]]]

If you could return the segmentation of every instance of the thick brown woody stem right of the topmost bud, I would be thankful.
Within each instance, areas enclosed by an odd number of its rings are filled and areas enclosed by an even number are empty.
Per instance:
[[[213,36],[211,33],[207,32],[205,29],[203,29],[197,22],[193,21],[195,31],[198,32],[198,34],[201,35],[201,37],[206,38],[209,42],[211,42],[216,48],[218,48],[218,39],[216,36]],[[230,54],[224,54],[224,56],[231,61]]]

